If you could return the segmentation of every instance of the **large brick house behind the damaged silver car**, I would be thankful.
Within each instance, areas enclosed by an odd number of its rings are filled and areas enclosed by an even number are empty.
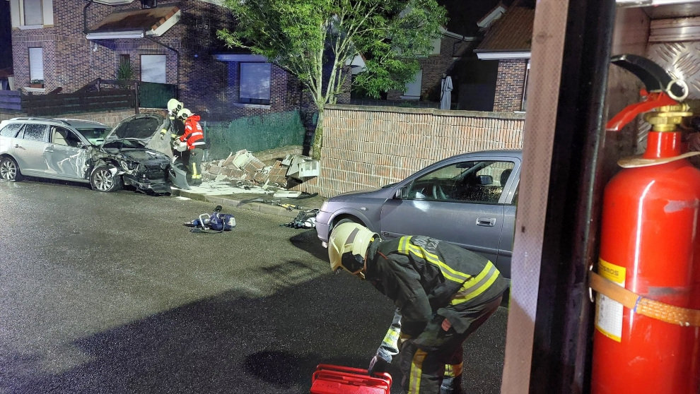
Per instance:
[[[75,92],[96,78],[116,79],[128,64],[135,80],[177,85],[180,100],[204,119],[287,112],[305,102],[296,77],[216,39],[216,30],[235,23],[220,0],[9,1],[16,89]],[[42,86],[31,88],[32,80]]]

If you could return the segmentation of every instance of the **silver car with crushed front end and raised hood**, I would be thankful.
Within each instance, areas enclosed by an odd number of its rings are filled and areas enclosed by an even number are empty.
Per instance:
[[[97,191],[124,185],[151,194],[170,194],[170,185],[189,189],[173,167],[168,141],[153,136],[165,119],[136,114],[114,129],[80,119],[14,118],[0,123],[0,179],[23,176],[89,183]],[[152,141],[153,140],[153,141]]]

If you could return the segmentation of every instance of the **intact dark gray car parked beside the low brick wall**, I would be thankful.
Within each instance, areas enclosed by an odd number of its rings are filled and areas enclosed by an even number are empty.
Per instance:
[[[383,238],[427,235],[481,253],[511,277],[520,150],[464,153],[395,184],[329,198],[316,215],[327,246],[332,229],[357,222]]]

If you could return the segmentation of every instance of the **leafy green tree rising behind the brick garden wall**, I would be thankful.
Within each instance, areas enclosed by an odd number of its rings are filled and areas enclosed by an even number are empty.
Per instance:
[[[219,30],[228,47],[250,49],[297,76],[318,109],[312,156],[320,159],[323,109],[346,92],[355,56],[366,69],[354,85],[367,95],[402,89],[445,24],[436,0],[224,0],[238,19]]]

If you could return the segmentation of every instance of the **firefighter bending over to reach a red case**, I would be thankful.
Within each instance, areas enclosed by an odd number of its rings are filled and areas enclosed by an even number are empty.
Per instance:
[[[498,309],[508,288],[494,264],[430,237],[383,241],[356,223],[333,230],[328,256],[332,270],[368,280],[397,306],[370,374],[399,354],[407,393],[462,393],[462,343]]]

